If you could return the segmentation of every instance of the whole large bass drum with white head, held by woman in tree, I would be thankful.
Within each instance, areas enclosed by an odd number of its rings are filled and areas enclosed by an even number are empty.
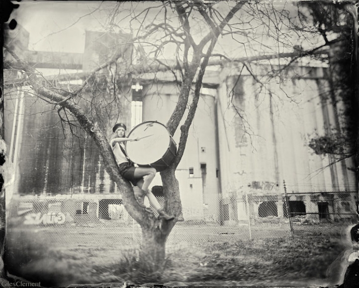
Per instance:
[[[128,158],[140,167],[153,167],[163,171],[174,160],[177,145],[166,126],[157,121],[146,121],[135,126],[128,134],[129,138],[139,141],[127,141]]]

